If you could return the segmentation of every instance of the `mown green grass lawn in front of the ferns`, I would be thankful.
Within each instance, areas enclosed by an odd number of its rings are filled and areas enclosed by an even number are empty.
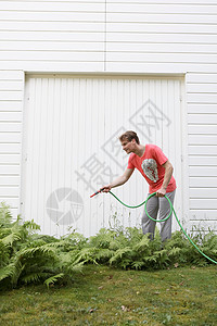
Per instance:
[[[217,268],[87,265],[71,286],[1,291],[0,325],[217,325]]]

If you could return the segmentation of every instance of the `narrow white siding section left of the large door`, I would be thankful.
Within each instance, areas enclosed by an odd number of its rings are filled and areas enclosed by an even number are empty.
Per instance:
[[[20,208],[24,73],[0,71],[0,201]]]

